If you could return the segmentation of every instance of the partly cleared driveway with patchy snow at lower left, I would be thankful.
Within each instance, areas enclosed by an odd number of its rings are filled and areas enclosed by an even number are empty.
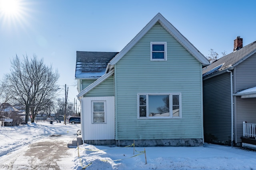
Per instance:
[[[3,156],[0,170],[70,170],[74,148],[68,143],[76,136],[50,135]]]

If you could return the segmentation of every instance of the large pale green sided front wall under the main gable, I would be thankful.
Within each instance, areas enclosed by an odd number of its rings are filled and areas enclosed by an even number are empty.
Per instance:
[[[167,42],[167,61],[150,61],[150,42]],[[202,65],[154,25],[115,65],[116,139],[202,139]],[[137,94],[181,93],[181,119],[138,119]]]

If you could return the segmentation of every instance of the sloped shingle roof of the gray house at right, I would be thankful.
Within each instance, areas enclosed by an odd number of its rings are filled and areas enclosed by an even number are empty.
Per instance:
[[[246,60],[254,53],[256,53],[256,41],[218,59],[217,61],[214,61],[209,66],[203,68],[203,78],[214,76],[222,72],[224,73],[228,69],[231,70],[233,69],[233,67],[242,63],[244,60]]]

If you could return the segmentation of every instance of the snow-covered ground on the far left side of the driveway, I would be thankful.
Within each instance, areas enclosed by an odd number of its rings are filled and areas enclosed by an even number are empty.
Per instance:
[[[56,121],[53,124],[45,121],[18,127],[0,127],[0,156],[18,150],[49,135],[70,133],[72,137],[75,137],[74,133],[78,129],[80,129],[80,124],[64,125],[63,123],[56,123]]]

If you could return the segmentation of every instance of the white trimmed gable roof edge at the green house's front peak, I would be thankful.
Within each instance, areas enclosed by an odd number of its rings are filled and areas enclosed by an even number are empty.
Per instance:
[[[110,63],[108,64],[108,70],[111,70],[112,65],[116,64],[124,55],[130,51],[130,49],[157,23],[159,22],[170,35],[172,35],[196,60],[202,63],[203,66],[209,65],[208,59],[202,55],[192,45],[188,39],[186,39],[169,21],[167,21],[160,13],[156,14],[156,16],[128,43],[120,53],[114,57]]]

